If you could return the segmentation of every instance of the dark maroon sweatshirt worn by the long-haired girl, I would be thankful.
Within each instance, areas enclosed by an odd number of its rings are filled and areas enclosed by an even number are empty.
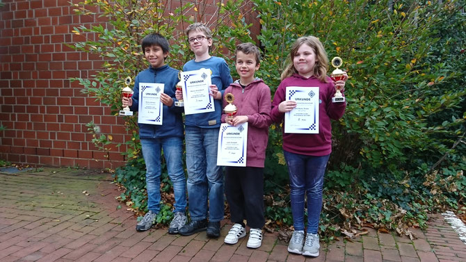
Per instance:
[[[280,113],[278,105],[285,100],[287,86],[319,87],[319,133],[283,133],[283,149],[294,154],[308,156],[326,156],[332,152],[332,124],[330,119],[338,120],[345,112],[346,103],[332,103],[335,85],[330,77],[323,83],[316,77],[306,79],[299,74],[283,79],[278,85],[272,101],[271,117],[273,122],[281,123],[284,113]]]

